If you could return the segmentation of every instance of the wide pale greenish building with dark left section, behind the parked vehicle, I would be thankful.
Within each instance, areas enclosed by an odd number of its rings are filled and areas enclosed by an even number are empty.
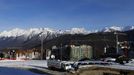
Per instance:
[[[93,49],[89,45],[65,45],[62,47],[53,46],[51,55],[59,60],[81,60],[93,57]]]

